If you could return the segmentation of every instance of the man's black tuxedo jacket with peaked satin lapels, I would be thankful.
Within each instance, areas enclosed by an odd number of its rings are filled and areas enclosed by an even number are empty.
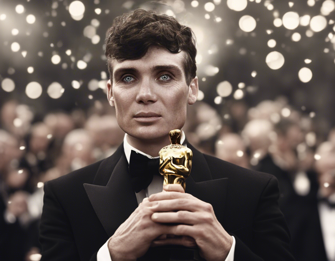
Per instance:
[[[212,204],[236,239],[234,260],[294,260],[276,178],[188,147],[193,160],[186,193]],[[46,182],[44,191],[42,261],[96,260],[99,248],[138,206],[123,144],[105,160]]]

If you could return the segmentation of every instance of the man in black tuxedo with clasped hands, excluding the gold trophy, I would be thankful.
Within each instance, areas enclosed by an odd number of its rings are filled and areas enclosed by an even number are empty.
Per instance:
[[[186,143],[193,151],[186,193],[180,185],[163,188],[152,173],[144,182],[146,170],[143,180],[131,178],[129,170],[142,170],[134,158],[157,157],[197,99],[191,29],[138,9],[114,20],[106,56],[107,96],[124,143],[111,157],[45,184],[42,260],[172,260],[178,245],[197,248],[205,260],[294,260],[273,176]]]

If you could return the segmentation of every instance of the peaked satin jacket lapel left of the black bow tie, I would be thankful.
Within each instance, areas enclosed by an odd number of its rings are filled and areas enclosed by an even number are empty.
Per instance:
[[[95,183],[100,185],[84,184],[93,209],[109,237],[138,206],[135,192],[130,185],[128,162],[123,147],[121,156],[118,151],[115,154],[100,165],[94,179]],[[112,174],[105,186],[102,183],[106,181],[106,177],[104,180],[103,176],[108,177],[111,171]]]

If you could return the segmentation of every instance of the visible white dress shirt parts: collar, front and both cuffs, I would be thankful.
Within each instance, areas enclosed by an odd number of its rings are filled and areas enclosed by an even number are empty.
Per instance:
[[[130,159],[130,153],[131,153],[132,150],[134,150],[135,152],[140,153],[144,156],[147,156],[148,158],[151,158],[151,159],[159,157],[159,156],[158,157],[152,157],[151,155],[146,154],[144,152],[141,152],[138,149],[134,148],[133,146],[131,146],[128,143],[127,136],[128,135],[126,134],[124,139],[123,139],[123,148],[124,148],[128,163],[129,163],[129,159]],[[185,134],[184,134],[184,132],[182,132],[181,144],[183,144],[184,141],[185,141]],[[160,177],[160,176],[157,176],[157,175],[153,175],[153,179],[152,179],[150,185],[146,189],[141,190],[138,193],[135,193],[137,203],[140,204],[143,201],[144,198],[149,197],[151,194],[162,192],[162,190],[163,190],[163,180],[164,180],[163,176]],[[235,241],[234,237],[232,237],[232,239],[233,239],[233,242],[232,242],[232,246],[230,248],[230,251],[228,253],[228,256],[225,260],[222,260],[222,261],[233,261],[234,260],[234,252],[235,252],[236,241]],[[110,239],[108,239],[107,242],[99,249],[99,251],[96,255],[97,261],[112,261],[111,255],[110,255],[109,249],[108,249],[109,240]]]

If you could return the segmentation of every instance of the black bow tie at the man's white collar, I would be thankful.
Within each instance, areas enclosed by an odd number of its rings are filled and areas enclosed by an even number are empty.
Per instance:
[[[153,175],[160,175],[159,158],[149,159],[132,150],[129,159],[129,173],[131,185],[138,193],[150,185]]]

